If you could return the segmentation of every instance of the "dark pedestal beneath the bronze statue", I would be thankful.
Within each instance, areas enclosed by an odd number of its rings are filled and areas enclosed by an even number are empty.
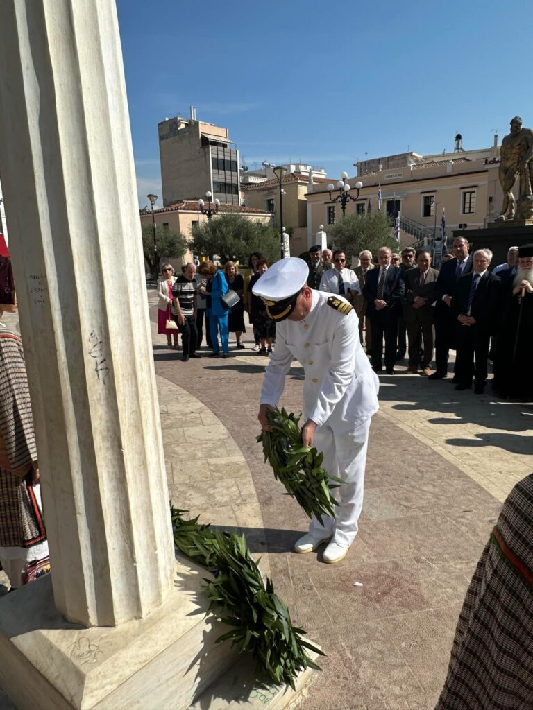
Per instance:
[[[510,246],[533,243],[533,219],[513,219],[505,222],[489,222],[480,229],[456,229],[453,239],[464,236],[468,239],[470,252],[475,249],[490,249],[492,268],[507,261],[507,251]]]

